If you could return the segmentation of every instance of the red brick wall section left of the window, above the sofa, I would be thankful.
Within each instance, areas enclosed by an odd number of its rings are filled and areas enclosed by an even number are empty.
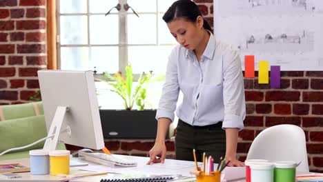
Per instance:
[[[1,0],[0,105],[29,101],[46,55],[46,0]]]

